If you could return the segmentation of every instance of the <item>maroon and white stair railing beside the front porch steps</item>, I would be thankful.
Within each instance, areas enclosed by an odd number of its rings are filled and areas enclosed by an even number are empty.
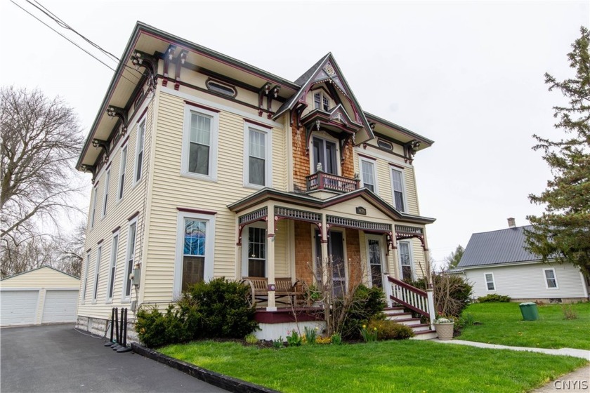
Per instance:
[[[430,319],[431,329],[434,328],[433,321],[435,319],[434,311],[434,297],[432,289],[422,291],[406,284],[404,281],[394,279],[391,276],[387,277],[387,291],[389,298],[404,307],[418,312]]]

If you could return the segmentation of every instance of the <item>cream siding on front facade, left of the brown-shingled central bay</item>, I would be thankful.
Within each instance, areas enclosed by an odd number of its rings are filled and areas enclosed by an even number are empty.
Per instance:
[[[214,213],[211,215],[215,220],[215,233],[209,234],[209,239],[214,239],[213,274],[214,277],[235,278],[236,264],[241,264],[242,256],[236,246],[236,216],[227,206],[258,190],[244,187],[244,117],[258,123],[263,122],[255,111],[248,115],[240,112],[241,108],[206,102],[206,107],[219,111],[217,160],[213,164],[216,166],[217,177],[216,180],[190,177],[183,175],[181,168],[183,132],[188,126],[184,124],[187,105],[185,100],[202,100],[168,89],[162,89],[158,94],[159,112],[143,302],[171,300],[177,258],[178,208]],[[195,110],[198,112],[199,108],[196,107]],[[285,138],[280,126],[273,124],[273,127],[270,131],[273,142],[273,188],[286,189]],[[282,240],[279,235],[275,241],[277,274],[287,274],[287,251],[284,246],[286,240]]]

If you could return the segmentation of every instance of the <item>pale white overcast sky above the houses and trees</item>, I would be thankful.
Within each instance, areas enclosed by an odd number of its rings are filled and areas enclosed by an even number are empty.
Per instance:
[[[527,195],[551,173],[532,134],[560,137],[551,109],[560,93],[547,91],[544,72],[573,76],[566,54],[590,24],[589,1],[40,4],[117,56],[137,20],[291,81],[332,52],[362,109],[435,140],[414,165],[420,213],[437,218],[427,227],[437,261],[473,232],[542,212]],[[0,85],[61,95],[87,134],[113,72],[8,0],[0,45]]]

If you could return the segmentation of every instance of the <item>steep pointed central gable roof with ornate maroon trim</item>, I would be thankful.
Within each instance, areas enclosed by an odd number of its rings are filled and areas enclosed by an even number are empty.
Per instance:
[[[289,98],[289,100],[281,105],[273,116],[274,119],[277,119],[277,117],[287,110],[293,109],[299,100],[303,100],[303,96],[309,91],[311,85],[323,81],[332,83],[336,90],[340,91],[346,96],[346,98],[348,98],[348,100],[350,100],[350,105],[353,106],[353,110],[355,110],[356,115],[358,116],[358,119],[355,119],[355,122],[362,124],[363,128],[365,128],[365,133],[367,133],[367,138],[365,138],[365,140],[374,138],[372,128],[369,125],[369,121],[367,121],[365,112],[363,112],[362,107],[355,98],[352,89],[348,86],[348,82],[344,78],[344,75],[332,53],[325,55],[322,59],[318,60],[313,67],[308,69],[303,75],[299,76],[295,83],[301,85],[301,88]],[[362,141],[363,140],[360,140],[360,142]]]

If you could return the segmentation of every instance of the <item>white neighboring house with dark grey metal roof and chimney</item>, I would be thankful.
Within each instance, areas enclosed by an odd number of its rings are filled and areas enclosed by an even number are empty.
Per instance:
[[[509,218],[509,228],[471,235],[456,269],[473,284],[473,297],[490,293],[508,295],[512,300],[570,302],[588,300],[589,283],[570,263],[541,262],[525,249],[525,230]]]

